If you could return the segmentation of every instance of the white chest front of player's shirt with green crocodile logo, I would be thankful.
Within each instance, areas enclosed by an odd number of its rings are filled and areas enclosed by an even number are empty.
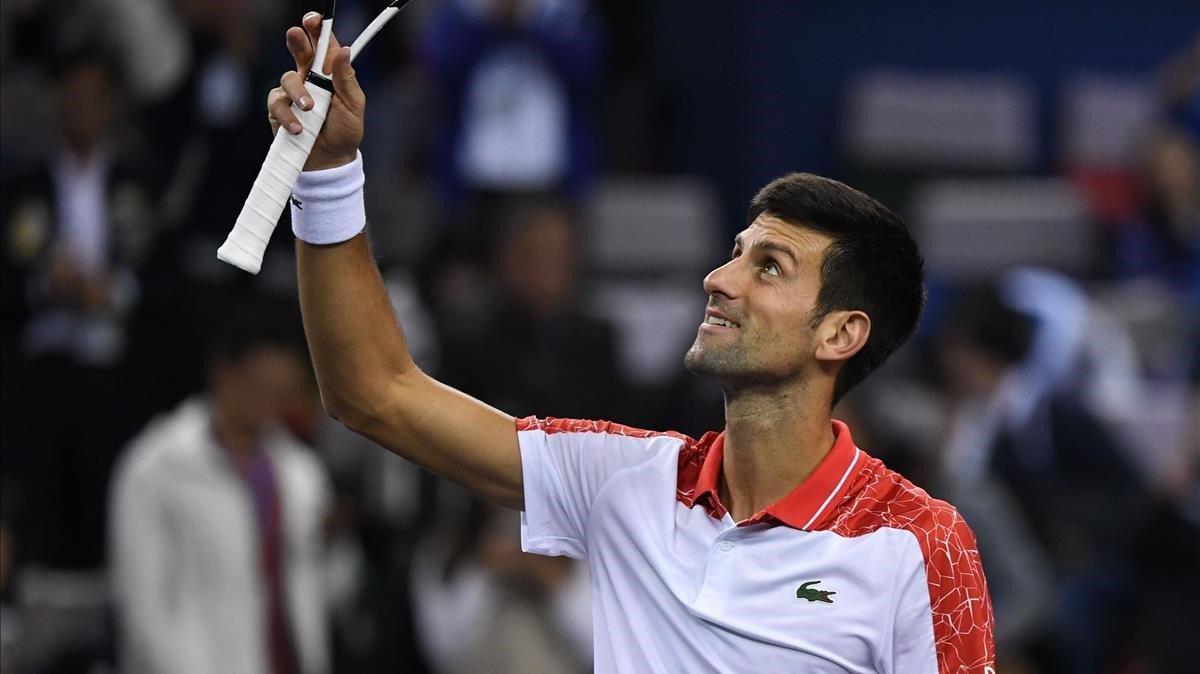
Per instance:
[[[655,639],[673,638],[666,648],[703,662],[752,658],[762,672],[887,669],[898,572],[920,554],[910,534],[737,526],[673,494],[668,501],[661,489],[614,495],[600,494],[589,526],[601,612],[620,606],[623,613],[607,614],[622,620],[632,610],[647,625],[672,625]]]

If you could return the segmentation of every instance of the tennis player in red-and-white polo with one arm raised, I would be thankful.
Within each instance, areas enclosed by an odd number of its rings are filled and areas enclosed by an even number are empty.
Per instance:
[[[319,17],[269,97],[295,130]],[[700,439],[518,419],[409,356],[365,235],[365,97],[331,48],[336,96],[293,198],[300,303],[326,409],[474,493],[522,511],[526,550],[592,567],[596,672],[991,672],[976,541],[949,504],[888,470],[833,404],[912,333],[923,263],[892,211],[804,174],[750,204],[689,369],[725,391]],[[586,385],[587,383],[581,383]]]

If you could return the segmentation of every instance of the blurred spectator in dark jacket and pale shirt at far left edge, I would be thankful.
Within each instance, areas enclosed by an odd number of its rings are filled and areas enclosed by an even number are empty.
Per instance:
[[[113,137],[112,62],[97,52],[66,56],[58,84],[59,146],[5,188],[14,197],[5,204],[7,258],[24,272],[28,297],[25,353],[112,366],[154,241],[154,204],[138,162]]]

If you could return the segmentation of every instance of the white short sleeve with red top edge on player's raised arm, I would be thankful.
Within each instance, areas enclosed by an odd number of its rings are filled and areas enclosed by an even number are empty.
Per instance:
[[[575,559],[587,559],[592,507],[608,480],[688,441],[608,421],[526,417],[516,426],[524,483],[521,547]]]

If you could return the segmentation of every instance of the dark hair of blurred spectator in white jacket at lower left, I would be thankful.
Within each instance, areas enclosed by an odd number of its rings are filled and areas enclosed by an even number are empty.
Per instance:
[[[226,305],[209,335],[209,362],[238,362],[263,347],[307,354],[300,312],[293,301],[253,297]]]

